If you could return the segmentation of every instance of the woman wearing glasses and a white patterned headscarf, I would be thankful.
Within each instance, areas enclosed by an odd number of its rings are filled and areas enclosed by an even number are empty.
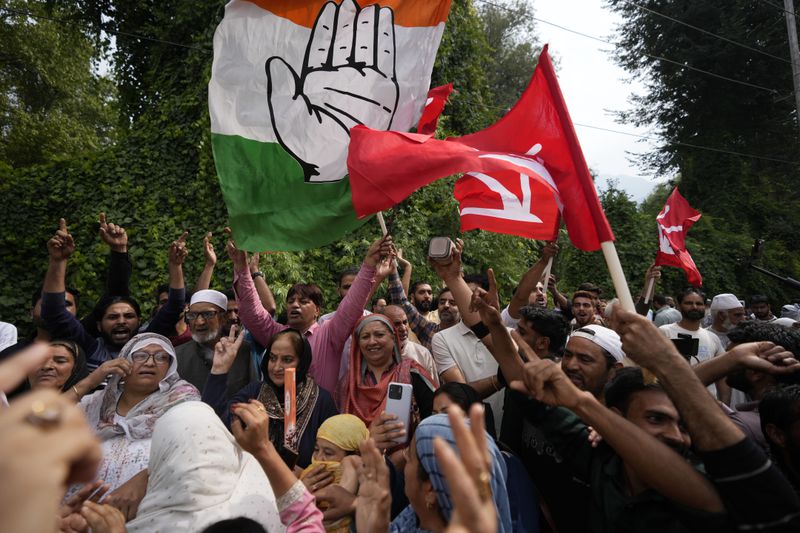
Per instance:
[[[105,389],[84,396],[80,407],[102,441],[97,479],[111,491],[106,503],[130,520],[147,488],[156,421],[179,403],[200,400],[200,393],[178,375],[175,349],[166,337],[136,335],[123,346],[118,360],[127,361],[127,369],[115,373]]]

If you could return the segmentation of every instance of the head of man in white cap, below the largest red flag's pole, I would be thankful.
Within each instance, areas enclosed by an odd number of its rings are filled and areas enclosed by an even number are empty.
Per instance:
[[[615,369],[622,368],[623,359],[619,335],[612,329],[589,324],[573,331],[567,339],[561,369],[579,389],[601,398]]]

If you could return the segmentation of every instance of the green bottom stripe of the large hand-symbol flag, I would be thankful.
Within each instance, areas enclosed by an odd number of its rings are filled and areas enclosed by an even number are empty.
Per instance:
[[[249,251],[306,250],[361,226],[350,181],[306,183],[294,158],[277,143],[211,135],[231,228]]]

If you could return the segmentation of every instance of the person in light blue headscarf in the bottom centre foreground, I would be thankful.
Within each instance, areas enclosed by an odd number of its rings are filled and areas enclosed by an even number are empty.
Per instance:
[[[494,440],[483,433],[491,456],[490,487],[497,511],[497,531],[511,533],[505,461]],[[405,466],[405,492],[410,505],[392,521],[392,533],[438,533],[444,531],[450,522],[453,501],[442,468],[433,452],[436,437],[457,450],[450,420],[445,414],[433,415],[423,420],[411,439]]]

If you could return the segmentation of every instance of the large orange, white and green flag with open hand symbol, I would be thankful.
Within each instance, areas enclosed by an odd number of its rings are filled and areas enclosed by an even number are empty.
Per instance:
[[[302,250],[363,223],[351,127],[420,116],[450,0],[233,0],[214,35],[214,159],[237,245]]]

